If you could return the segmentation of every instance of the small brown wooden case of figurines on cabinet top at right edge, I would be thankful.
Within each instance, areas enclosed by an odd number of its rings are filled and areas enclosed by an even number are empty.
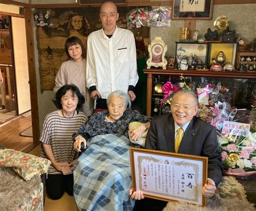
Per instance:
[[[256,73],[256,52],[237,51],[236,68],[241,71],[255,71]]]

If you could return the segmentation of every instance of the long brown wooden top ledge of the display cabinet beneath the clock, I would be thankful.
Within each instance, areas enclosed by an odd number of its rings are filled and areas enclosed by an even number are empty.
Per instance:
[[[154,75],[186,75],[198,77],[215,77],[215,78],[256,78],[256,71],[209,71],[209,70],[175,70],[175,69],[144,69],[146,74]]]

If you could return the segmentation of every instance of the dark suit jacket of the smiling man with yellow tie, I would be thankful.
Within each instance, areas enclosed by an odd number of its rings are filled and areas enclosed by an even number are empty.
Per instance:
[[[175,126],[170,114],[154,118],[147,133],[145,147],[175,153]],[[212,179],[216,186],[220,183],[221,155],[218,151],[216,129],[212,125],[193,117],[183,134],[177,153],[208,157],[208,178]]]

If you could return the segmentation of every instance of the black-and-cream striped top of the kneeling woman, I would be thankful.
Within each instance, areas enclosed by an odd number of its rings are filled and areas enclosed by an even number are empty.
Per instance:
[[[87,119],[85,113],[81,111],[75,112],[70,119],[59,116],[58,111],[53,111],[46,116],[39,141],[51,145],[56,162],[71,163],[78,157],[78,153],[73,149],[72,134],[77,132]],[[42,146],[41,157],[47,158]],[[52,165],[49,167],[48,173],[60,174]]]

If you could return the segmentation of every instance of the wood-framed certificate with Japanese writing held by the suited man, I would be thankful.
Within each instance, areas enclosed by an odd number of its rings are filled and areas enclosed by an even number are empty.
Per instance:
[[[206,205],[208,157],[130,147],[134,191],[164,201]]]

